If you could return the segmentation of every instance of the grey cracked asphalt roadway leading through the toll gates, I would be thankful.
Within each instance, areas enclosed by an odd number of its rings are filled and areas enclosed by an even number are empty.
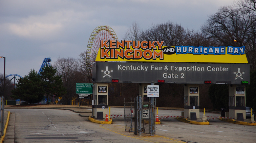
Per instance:
[[[194,125],[178,121],[176,118],[165,118],[161,119],[160,125],[156,125],[156,135],[139,137],[124,132],[123,117],[114,118],[111,125],[101,125],[68,110],[6,109],[6,111],[12,113],[9,124],[14,128],[14,136],[11,139],[11,135],[8,135],[9,131],[4,143],[249,143],[256,140],[255,126],[236,125],[219,119],[210,120],[210,125]],[[111,112],[112,115],[123,113],[123,108],[111,108]],[[176,112],[180,116],[179,110],[159,110],[159,115],[172,115]],[[11,128],[8,126],[7,130]]]

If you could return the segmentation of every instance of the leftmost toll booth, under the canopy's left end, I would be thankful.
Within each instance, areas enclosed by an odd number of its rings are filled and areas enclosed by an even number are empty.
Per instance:
[[[96,119],[105,119],[108,114],[108,84],[95,83],[93,89],[93,116]]]

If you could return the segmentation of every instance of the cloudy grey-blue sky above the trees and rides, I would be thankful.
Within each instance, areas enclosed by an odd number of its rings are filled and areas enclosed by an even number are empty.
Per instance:
[[[93,30],[110,26],[122,40],[134,22],[141,29],[173,22],[200,30],[210,14],[234,0],[0,0],[0,56],[6,75],[39,71],[45,57],[78,58]],[[173,46],[173,45],[172,45]],[[0,58],[0,74],[4,59]]]

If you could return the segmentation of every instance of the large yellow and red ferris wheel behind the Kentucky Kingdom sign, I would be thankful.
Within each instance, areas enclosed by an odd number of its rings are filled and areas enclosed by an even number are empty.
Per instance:
[[[96,27],[88,41],[86,59],[92,64],[95,62],[100,47],[100,40],[118,40],[115,31],[109,26]]]

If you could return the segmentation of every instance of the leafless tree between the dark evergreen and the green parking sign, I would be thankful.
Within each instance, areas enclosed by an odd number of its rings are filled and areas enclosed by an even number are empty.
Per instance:
[[[75,83],[77,82],[76,73],[78,65],[75,58],[58,58],[54,62],[53,67],[57,69],[57,75],[62,75],[63,86],[67,89],[67,94],[64,95],[64,104],[68,104],[75,95]]]

